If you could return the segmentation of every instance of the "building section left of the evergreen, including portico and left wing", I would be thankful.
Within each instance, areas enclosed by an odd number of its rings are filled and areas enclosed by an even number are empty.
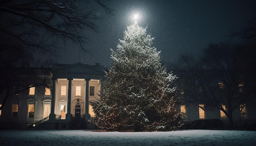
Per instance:
[[[54,64],[49,71],[51,89],[31,87],[7,99],[0,111],[1,128],[24,129],[45,121],[69,123],[72,119],[88,122],[90,116],[95,116],[90,102],[99,98],[105,75],[103,66],[98,63]]]

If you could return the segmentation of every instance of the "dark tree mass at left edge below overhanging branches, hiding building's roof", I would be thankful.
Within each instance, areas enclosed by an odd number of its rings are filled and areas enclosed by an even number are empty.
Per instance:
[[[0,103],[2,104],[0,110],[4,107],[7,98],[27,91],[31,87],[41,86],[42,90],[44,87],[51,88],[49,68],[28,68],[28,64],[34,61],[29,50],[22,44],[11,42],[9,38],[0,36],[0,40],[4,41],[0,49]]]

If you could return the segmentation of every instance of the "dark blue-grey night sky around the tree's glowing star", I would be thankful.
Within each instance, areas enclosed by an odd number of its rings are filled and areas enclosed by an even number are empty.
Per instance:
[[[254,0],[112,0],[108,6],[114,15],[95,10],[101,18],[96,22],[100,33],[85,31],[90,39],[85,49],[92,54],[81,52],[84,64],[99,62],[110,67],[110,48],[117,49],[135,13],[139,14],[139,26],[147,27],[147,33],[155,38],[153,46],[161,51],[166,65],[176,62],[181,53],[195,56],[208,44],[231,40],[231,32],[242,30],[256,16]],[[58,63],[76,62],[79,46],[69,44]]]

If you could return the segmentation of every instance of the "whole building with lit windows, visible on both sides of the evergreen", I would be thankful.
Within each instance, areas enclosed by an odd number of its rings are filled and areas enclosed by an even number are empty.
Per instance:
[[[69,128],[73,119],[94,117],[90,102],[99,98],[105,77],[105,70],[100,64],[86,65],[54,64],[47,69],[51,77],[51,88],[31,87],[13,94],[0,110],[0,128],[22,128],[47,123],[44,128]],[[0,106],[4,91],[0,93]],[[222,104],[222,108],[227,105]],[[198,119],[220,119],[228,123],[229,119],[220,110],[208,108],[204,103],[182,104],[177,107],[186,122]],[[245,102],[233,112],[234,125],[254,123],[256,120],[255,102]],[[52,126],[51,126],[52,125]],[[239,125],[238,125],[239,126]]]

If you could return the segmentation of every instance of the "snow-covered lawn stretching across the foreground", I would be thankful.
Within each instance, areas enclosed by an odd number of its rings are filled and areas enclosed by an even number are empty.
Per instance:
[[[256,131],[0,131],[1,146],[256,146]]]

